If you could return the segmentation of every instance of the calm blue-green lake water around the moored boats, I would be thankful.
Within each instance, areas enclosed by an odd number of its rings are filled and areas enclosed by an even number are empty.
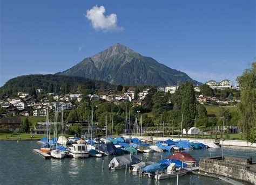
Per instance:
[[[176,184],[176,179],[156,182],[148,177],[125,170],[108,169],[112,156],[103,158],[45,160],[32,152],[39,148],[36,141],[0,141],[0,184]],[[221,155],[221,149],[187,151],[199,162],[203,156]],[[137,158],[159,161],[173,152],[137,154]],[[256,161],[256,150],[245,147],[224,147],[224,155],[249,157]],[[102,160],[104,170],[102,171]],[[228,184],[224,181],[197,175],[179,177],[180,184]]]

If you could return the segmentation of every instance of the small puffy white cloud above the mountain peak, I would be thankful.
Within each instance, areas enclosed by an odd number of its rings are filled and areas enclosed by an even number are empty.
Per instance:
[[[123,31],[123,27],[117,26],[117,15],[111,13],[105,16],[104,6],[93,6],[91,10],[86,11],[85,17],[91,21],[92,27],[95,30],[103,31]]]

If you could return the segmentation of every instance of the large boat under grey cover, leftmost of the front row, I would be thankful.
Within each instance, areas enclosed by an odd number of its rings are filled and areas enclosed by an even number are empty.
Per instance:
[[[130,167],[141,160],[133,155],[122,155],[114,157],[109,163],[109,169],[125,169],[125,167]]]

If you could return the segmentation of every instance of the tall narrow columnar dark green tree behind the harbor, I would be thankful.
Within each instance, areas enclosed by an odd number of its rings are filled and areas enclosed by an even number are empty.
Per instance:
[[[181,112],[183,113],[183,126],[186,130],[187,136],[187,131],[193,126],[193,119],[196,117],[196,97],[194,95],[194,88],[191,82],[185,83]]]

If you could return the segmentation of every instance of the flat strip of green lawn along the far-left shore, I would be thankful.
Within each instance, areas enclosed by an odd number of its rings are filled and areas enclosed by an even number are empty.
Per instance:
[[[21,136],[21,140],[30,140],[31,134],[30,133],[21,133],[21,134],[14,134],[14,133],[0,133],[0,140],[19,140],[19,136]],[[60,136],[60,135],[59,135]],[[33,134],[33,140],[40,140],[45,137],[45,134]],[[51,136],[51,138],[53,135]],[[65,137],[73,137],[71,135],[65,135]]]

